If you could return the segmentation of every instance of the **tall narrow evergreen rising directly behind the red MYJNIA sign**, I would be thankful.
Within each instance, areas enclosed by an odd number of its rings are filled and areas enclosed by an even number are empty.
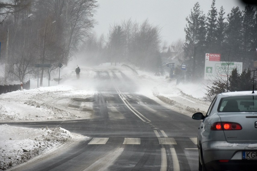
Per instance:
[[[217,39],[217,9],[215,7],[215,0],[212,0],[211,10],[207,14],[207,48],[208,52],[213,52],[214,44]],[[215,52],[215,51],[214,51]]]

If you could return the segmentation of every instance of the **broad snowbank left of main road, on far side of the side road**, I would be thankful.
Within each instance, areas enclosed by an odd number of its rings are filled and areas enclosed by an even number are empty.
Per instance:
[[[72,104],[74,98],[90,98],[93,94],[70,86],[40,87],[1,94],[0,122],[87,119],[91,116],[90,112],[73,111],[68,104]],[[93,103],[85,105],[89,105],[87,108],[90,111]]]

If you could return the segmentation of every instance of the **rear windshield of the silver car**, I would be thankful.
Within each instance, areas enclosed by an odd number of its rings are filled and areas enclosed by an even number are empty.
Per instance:
[[[256,96],[233,96],[221,99],[219,112],[252,112],[257,111]]]

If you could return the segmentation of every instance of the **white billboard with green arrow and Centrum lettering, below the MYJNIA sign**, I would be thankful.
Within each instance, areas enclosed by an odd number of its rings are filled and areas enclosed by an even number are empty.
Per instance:
[[[226,80],[231,75],[232,70],[236,68],[238,73],[242,73],[242,62],[223,62],[205,60],[205,80]]]

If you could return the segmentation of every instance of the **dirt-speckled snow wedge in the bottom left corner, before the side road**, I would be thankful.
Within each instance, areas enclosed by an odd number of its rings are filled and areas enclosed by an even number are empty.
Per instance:
[[[61,127],[33,129],[0,125],[0,170],[24,163],[67,141],[85,138]]]

